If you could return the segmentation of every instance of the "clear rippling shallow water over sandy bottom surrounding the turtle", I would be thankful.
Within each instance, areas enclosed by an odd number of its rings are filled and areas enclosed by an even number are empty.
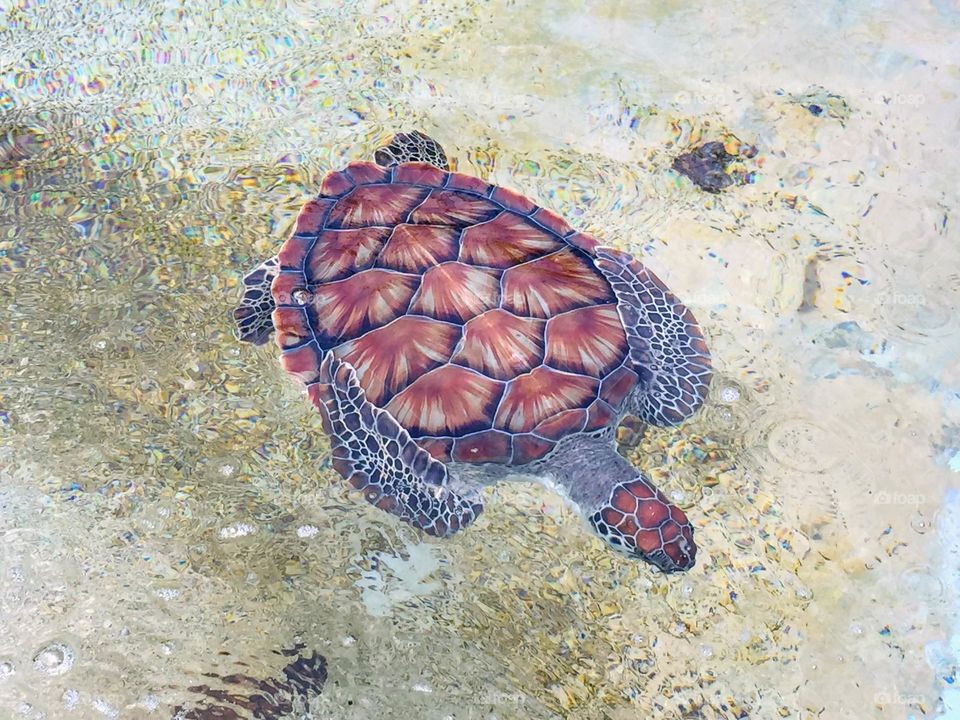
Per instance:
[[[949,5],[0,9],[0,717],[170,717],[296,642],[317,718],[960,712]],[[319,178],[413,127],[696,312],[713,397],[635,454],[692,572],[525,485],[423,538],[237,346]],[[670,171],[714,139],[752,184]]]

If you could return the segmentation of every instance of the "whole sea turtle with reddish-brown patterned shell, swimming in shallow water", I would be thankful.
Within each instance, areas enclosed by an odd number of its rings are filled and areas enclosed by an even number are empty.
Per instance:
[[[692,567],[686,515],[614,431],[700,406],[711,364],[693,314],[630,255],[449,172],[422,133],[374,157],[323,179],[235,311],[241,340],[276,332],[337,472],[435,536],[476,519],[482,485],[538,479],[612,546]]]

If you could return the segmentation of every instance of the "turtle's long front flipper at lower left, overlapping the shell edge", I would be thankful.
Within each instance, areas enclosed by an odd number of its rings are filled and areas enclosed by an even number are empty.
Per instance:
[[[334,468],[368,502],[438,537],[466,527],[483,511],[479,495],[451,490],[443,463],[366,399],[349,363],[328,352],[308,392],[330,436]]]

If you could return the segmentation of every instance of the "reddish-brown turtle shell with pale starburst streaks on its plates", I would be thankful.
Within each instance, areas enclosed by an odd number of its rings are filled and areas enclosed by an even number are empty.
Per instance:
[[[596,242],[425,163],[323,180],[280,250],[283,366],[320,404],[327,352],[442,461],[522,465],[615,422],[638,382]]]

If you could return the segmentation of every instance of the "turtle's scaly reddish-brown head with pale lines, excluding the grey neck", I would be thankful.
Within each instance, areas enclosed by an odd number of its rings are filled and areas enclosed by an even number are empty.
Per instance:
[[[689,570],[696,562],[687,516],[642,474],[617,483],[590,523],[610,545],[665,573]]]

